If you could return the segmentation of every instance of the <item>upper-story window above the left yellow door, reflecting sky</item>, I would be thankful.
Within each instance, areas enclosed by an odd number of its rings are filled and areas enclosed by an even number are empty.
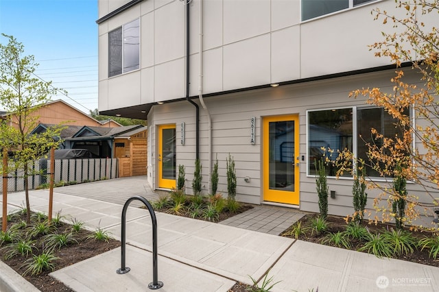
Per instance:
[[[108,33],[108,77],[139,69],[140,21],[136,19]]]

